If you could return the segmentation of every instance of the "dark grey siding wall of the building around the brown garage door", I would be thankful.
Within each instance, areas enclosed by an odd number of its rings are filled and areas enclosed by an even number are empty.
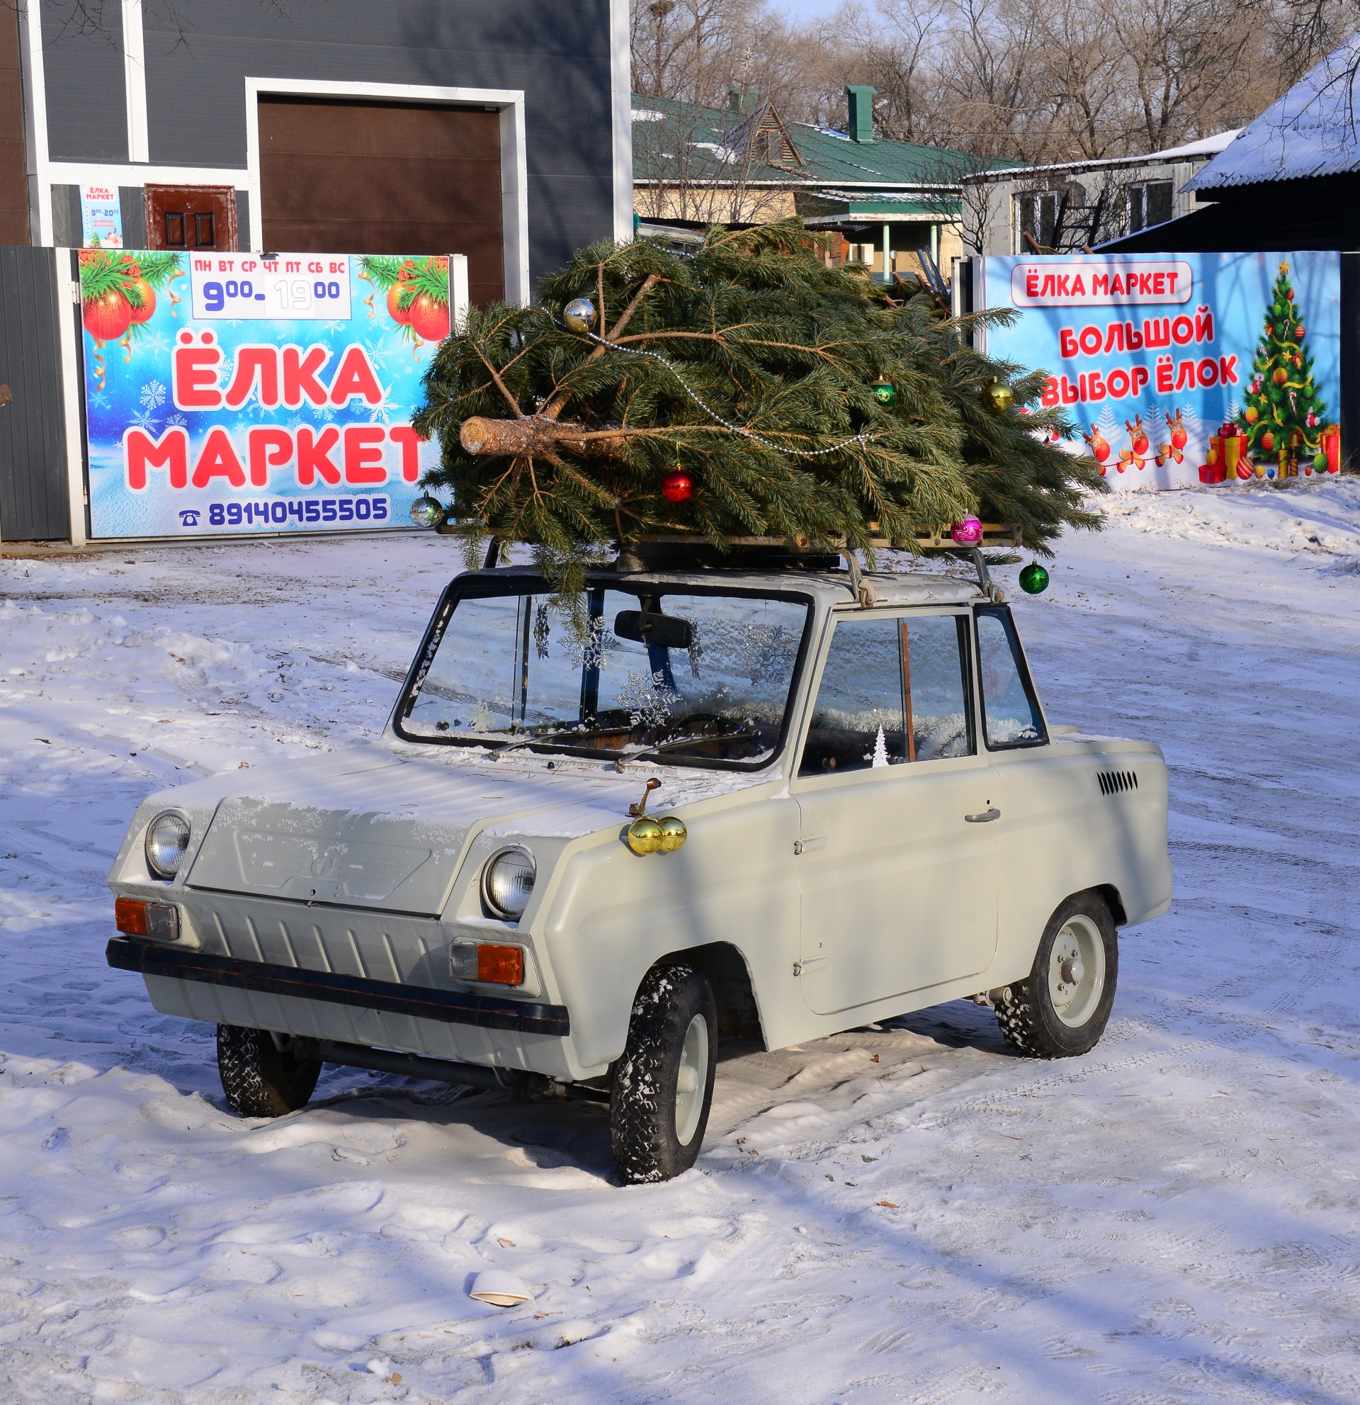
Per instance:
[[[126,162],[121,48],[72,13],[42,0],[51,156]],[[244,169],[247,76],[523,89],[531,275],[613,233],[608,0],[177,0],[174,14],[183,34],[143,10],[152,164]]]

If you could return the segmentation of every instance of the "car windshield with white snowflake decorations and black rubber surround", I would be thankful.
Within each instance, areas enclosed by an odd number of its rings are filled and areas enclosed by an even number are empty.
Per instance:
[[[461,594],[436,625],[396,731],[412,742],[761,766],[784,735],[809,613],[799,597],[593,586],[579,631],[542,582]]]

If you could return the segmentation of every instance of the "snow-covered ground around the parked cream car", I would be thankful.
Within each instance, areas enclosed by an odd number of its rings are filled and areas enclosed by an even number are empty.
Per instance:
[[[447,540],[0,561],[0,1398],[1360,1398],[1360,483],[1109,510],[1016,606],[1052,719],[1170,762],[1104,1041],[729,1051],[632,1189],[593,1107],[332,1072],[242,1123],[104,965],[140,797],[379,728]]]

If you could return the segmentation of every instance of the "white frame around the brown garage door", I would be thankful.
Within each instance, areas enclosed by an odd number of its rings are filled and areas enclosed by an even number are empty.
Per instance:
[[[500,230],[506,302],[527,305],[528,166],[524,152],[524,90],[434,87],[413,83],[344,83],[330,79],[246,79],[246,188],[250,194],[250,243],[263,251],[264,207],[260,198],[260,96],[385,98],[395,103],[447,103],[450,107],[500,112]],[[337,249],[336,253],[348,250]],[[392,253],[402,253],[393,249]],[[450,249],[448,253],[462,253]]]

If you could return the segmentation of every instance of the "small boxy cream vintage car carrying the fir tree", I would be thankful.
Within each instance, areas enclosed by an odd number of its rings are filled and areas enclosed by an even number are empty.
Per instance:
[[[1048,724],[998,596],[615,569],[573,625],[461,575],[381,739],[138,809],[108,960],[218,1026],[240,1114],[323,1062],[593,1099],[625,1182],[693,1165],[724,1034],[972,996],[1082,1054],[1170,903],[1166,767]]]

